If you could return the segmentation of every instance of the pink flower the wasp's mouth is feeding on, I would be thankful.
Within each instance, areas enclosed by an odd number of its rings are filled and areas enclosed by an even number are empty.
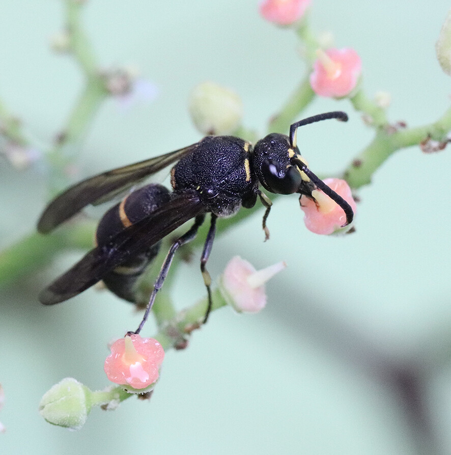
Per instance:
[[[326,178],[324,183],[348,202],[355,213],[356,204],[352,198],[351,189],[345,180]],[[301,209],[305,213],[304,223],[307,229],[316,234],[324,235],[340,230],[341,226],[346,223],[346,215],[343,209],[321,190],[312,191],[312,196],[316,203],[304,195],[299,199]],[[349,228],[346,227],[346,230]]]

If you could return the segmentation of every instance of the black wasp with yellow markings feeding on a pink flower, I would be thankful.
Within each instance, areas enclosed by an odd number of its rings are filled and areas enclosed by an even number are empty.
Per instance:
[[[173,192],[150,184],[130,193],[101,219],[96,232],[97,247],[87,253],[64,275],[44,289],[39,300],[45,305],[63,302],[100,280],[119,297],[134,301],[133,285],[156,256],[160,240],[194,218],[193,225],[172,244],[161,267],[138,333],[161,288],[177,249],[192,240],[211,213],[210,229],[201,256],[201,271],[208,291],[211,310],[210,275],[206,263],[213,245],[216,219],[231,217],[241,206],[253,207],[260,198],[266,207],[263,228],[271,201],[259,189],[277,194],[299,193],[314,200],[312,191],[322,190],[346,213],[352,222],[350,205],[311,170],[296,145],[299,126],[326,119],[347,121],[344,112],[329,112],[308,117],[290,127],[290,136],[272,133],[253,147],[233,136],[207,136],[188,147],[155,158],[104,172],[71,186],[44,210],[38,230],[48,233],[88,204],[111,198],[144,180],[160,169],[176,163],[171,170]]]

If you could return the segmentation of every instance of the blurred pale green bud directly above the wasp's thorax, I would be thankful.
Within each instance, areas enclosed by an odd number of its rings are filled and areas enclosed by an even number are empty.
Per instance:
[[[214,82],[203,82],[189,95],[189,113],[195,127],[204,135],[233,133],[243,117],[241,98]]]

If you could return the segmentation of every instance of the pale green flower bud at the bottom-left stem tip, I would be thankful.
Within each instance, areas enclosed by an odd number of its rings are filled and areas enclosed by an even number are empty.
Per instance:
[[[39,413],[54,425],[79,430],[91,411],[91,390],[73,378],[65,378],[44,394]]]

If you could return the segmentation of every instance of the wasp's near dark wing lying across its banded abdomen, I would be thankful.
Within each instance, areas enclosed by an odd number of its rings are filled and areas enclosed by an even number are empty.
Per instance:
[[[108,243],[88,252],[40,293],[40,302],[53,305],[76,296],[128,258],[156,244],[183,223],[205,211],[205,206],[195,193],[173,195],[170,202],[150,216],[124,229]]]

